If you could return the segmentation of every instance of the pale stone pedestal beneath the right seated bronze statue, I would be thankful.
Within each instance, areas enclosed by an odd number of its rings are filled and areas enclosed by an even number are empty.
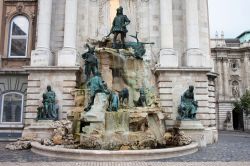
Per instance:
[[[205,128],[199,120],[178,120],[176,121],[175,127],[191,136],[192,141],[198,142],[199,147],[205,147],[207,145]]]

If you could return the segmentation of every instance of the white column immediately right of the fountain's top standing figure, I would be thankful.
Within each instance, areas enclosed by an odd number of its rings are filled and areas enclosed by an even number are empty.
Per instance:
[[[161,67],[178,67],[178,56],[174,51],[172,0],[160,0]]]

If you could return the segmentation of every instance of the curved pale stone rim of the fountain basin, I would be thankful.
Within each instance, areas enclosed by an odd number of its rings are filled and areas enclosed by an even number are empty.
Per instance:
[[[156,160],[171,157],[179,157],[192,154],[198,151],[198,143],[192,142],[186,146],[171,147],[164,149],[149,150],[85,150],[85,149],[67,149],[60,146],[45,146],[38,142],[31,143],[31,151],[40,155],[59,157],[75,160],[93,160],[93,161],[139,161]]]

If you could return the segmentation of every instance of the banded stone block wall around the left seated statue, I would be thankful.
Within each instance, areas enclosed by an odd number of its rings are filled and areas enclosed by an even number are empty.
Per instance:
[[[71,91],[77,86],[78,67],[68,69],[58,67],[27,68],[30,71],[27,88],[27,106],[24,116],[25,125],[32,124],[37,116],[37,107],[42,105],[42,94],[51,85],[56,93],[56,101],[59,105],[59,119],[65,119],[67,113],[75,108],[75,102]]]

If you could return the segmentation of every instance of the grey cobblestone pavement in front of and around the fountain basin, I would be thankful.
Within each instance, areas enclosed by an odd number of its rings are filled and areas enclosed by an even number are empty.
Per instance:
[[[158,165],[204,165],[204,166],[250,166],[250,134],[242,132],[220,132],[219,142],[209,145],[199,152],[182,157],[163,159],[148,162],[79,162],[60,158],[40,156],[30,150],[10,151],[5,149],[6,142],[0,142],[0,166],[9,165],[135,165],[135,166],[158,166]],[[11,163],[10,163],[11,162]],[[44,163],[46,162],[46,163]],[[48,163],[49,162],[49,163]],[[53,162],[53,163],[52,163]],[[55,163],[54,163],[55,162]],[[198,163],[196,163],[198,162]],[[230,164],[228,163],[230,162]]]

